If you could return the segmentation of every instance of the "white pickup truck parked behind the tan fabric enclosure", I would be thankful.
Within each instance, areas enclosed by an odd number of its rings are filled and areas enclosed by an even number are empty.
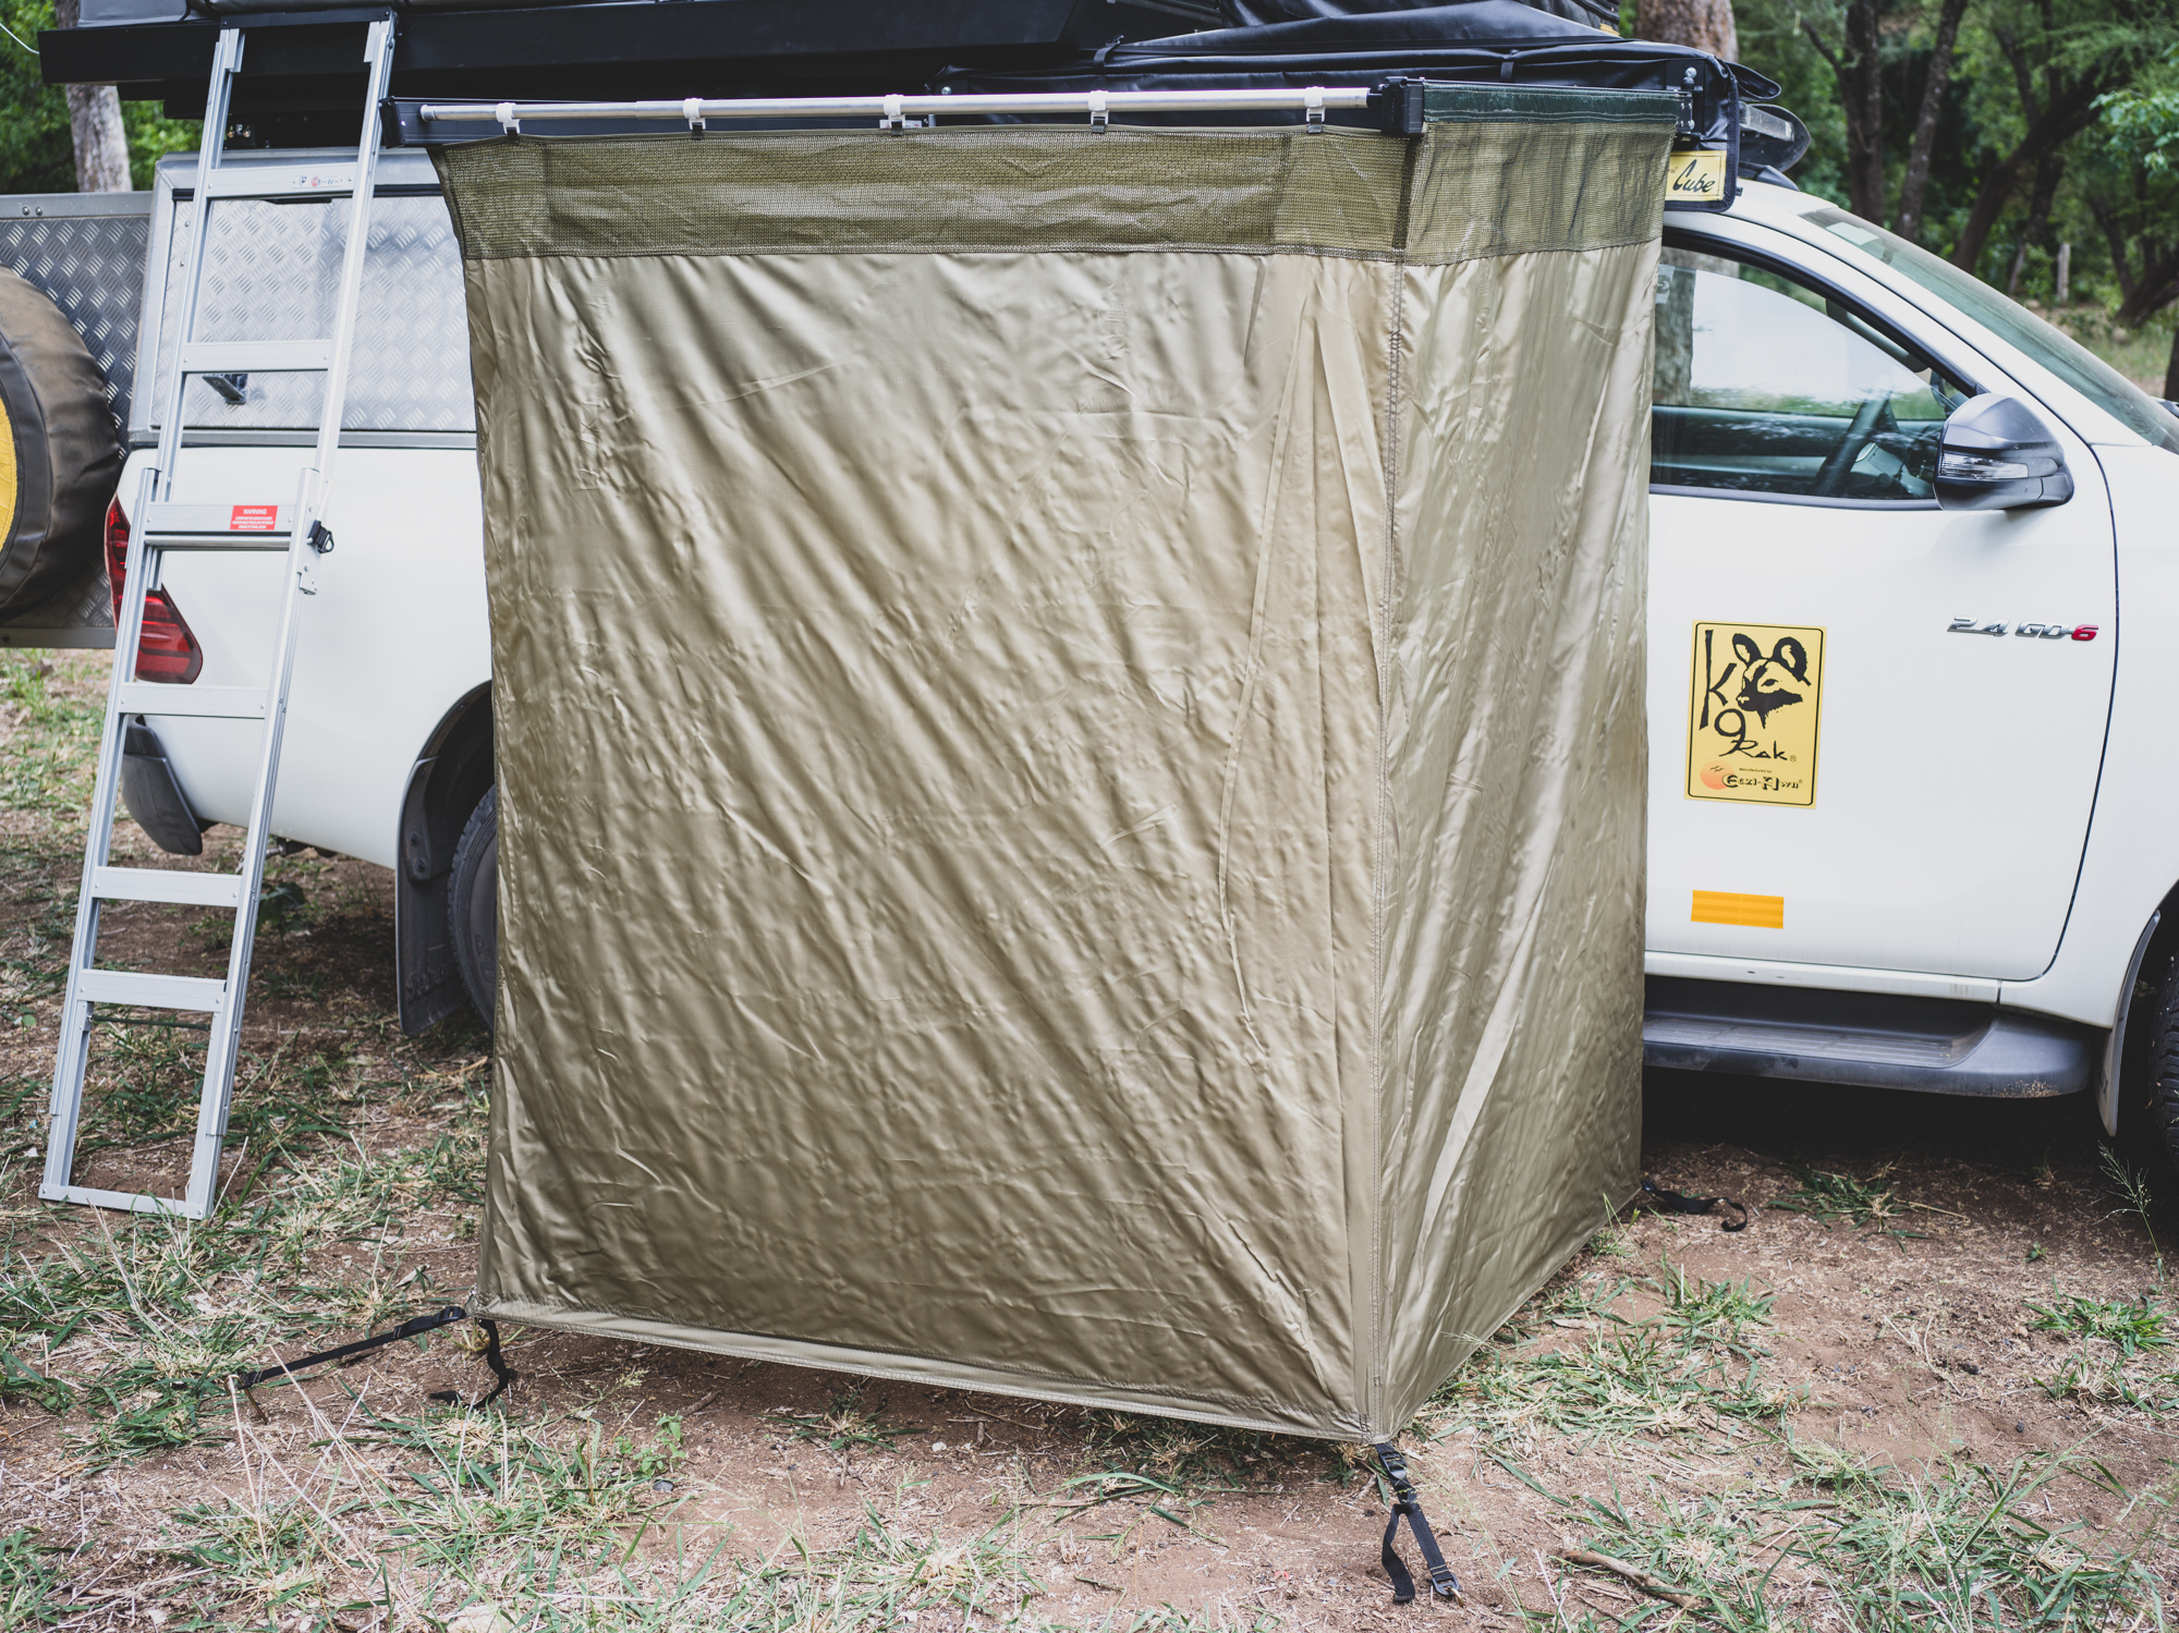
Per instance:
[[[192,172],[159,168],[153,266],[187,253]],[[423,155],[388,155],[381,179],[338,547],[303,603],[275,830],[394,871],[418,1030],[464,993],[490,1008],[490,653],[455,244]],[[207,311],[320,333],[340,213],[301,231],[307,205],[255,209],[288,216],[264,255],[207,270]],[[142,377],[161,344],[150,283]],[[1983,283],[1785,185],[1669,211],[1656,298],[1650,1063],[2096,1091],[2107,1126],[2127,1097],[2179,1154],[2179,753],[2157,725],[2179,418]],[[222,446],[174,499],[277,503],[309,440],[294,394],[314,388],[216,385],[192,388],[192,422]],[[155,433],[144,396],[122,494]],[[277,575],[277,557],[176,560],[163,673],[255,682]],[[133,747],[129,799],[161,845],[242,816],[253,725],[174,719]]]

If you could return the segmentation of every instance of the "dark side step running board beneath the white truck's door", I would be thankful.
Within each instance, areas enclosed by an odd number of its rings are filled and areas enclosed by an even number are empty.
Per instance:
[[[2031,1100],[2096,1082],[2103,1034],[2044,1015],[1885,993],[1650,978],[1643,1065]]]

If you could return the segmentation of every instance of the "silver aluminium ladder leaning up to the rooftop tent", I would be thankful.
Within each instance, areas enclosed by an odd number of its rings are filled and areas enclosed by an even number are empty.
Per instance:
[[[107,688],[107,721],[98,740],[98,793],[92,803],[89,838],[83,847],[83,888],[76,897],[76,941],[68,958],[68,997],[61,1008],[61,1049],[52,1071],[52,1115],[46,1126],[48,1202],[87,1202],[139,1213],[179,1213],[203,1219],[216,1202],[220,1145],[227,1139],[227,1106],[235,1082],[235,1047],[242,1028],[242,997],[251,980],[251,947],[257,938],[257,893],[264,888],[270,845],[272,788],[279,779],[281,727],[288,719],[288,684],[294,673],[296,599],[316,594],[314,562],[331,549],[325,507],[340,453],[340,427],[349,396],[349,357],[355,316],[364,290],[364,253],[370,237],[370,200],[379,163],[379,102],[386,98],[394,54],[392,15],[370,24],[364,46],[368,91],[353,170],[333,165],[222,165],[229,98],[242,67],[246,28],[227,26],[211,59],[205,98],[205,142],[196,161],[196,196],[190,205],[187,270],[174,318],[174,357],[159,379],[166,418],[159,451],[144,470],[129,533],[129,568],[120,616],[113,629],[113,679]],[[216,200],[349,198],[349,242],[340,266],[333,333],[325,340],[198,340],[198,296],[211,242]],[[157,274],[157,268],[153,268]],[[161,324],[163,327],[163,324]],[[183,407],[192,379],[235,375],[322,375],[316,455],[303,468],[292,505],[264,503],[174,503],[174,470],[183,457]],[[144,629],[144,597],[159,584],[168,551],[285,551],[279,623],[264,686],[172,686],[135,679],[137,642]],[[248,832],[242,840],[240,873],[185,873],[168,869],[113,867],[113,797],[120,786],[122,745],[129,719],[211,716],[261,721],[257,782],[251,795]],[[98,912],[105,901],[168,901],[224,908],[235,917],[227,980],[161,975],[150,971],[98,969]],[[196,1110],[196,1147],[190,1158],[190,1189],[181,1198],[135,1195],[74,1184],[76,1132],[83,1084],[89,1069],[94,1006],[183,1010],[209,1017],[205,1078]]]

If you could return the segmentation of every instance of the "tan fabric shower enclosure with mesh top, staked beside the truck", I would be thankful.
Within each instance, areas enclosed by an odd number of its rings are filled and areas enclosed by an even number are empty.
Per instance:
[[[1399,1433],[1639,1180],[1671,122],[445,150],[479,1309]]]

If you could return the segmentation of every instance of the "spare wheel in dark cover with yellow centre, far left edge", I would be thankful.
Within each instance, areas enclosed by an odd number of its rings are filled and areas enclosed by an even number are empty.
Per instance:
[[[107,381],[46,294],[0,270],[0,607],[26,607],[96,553],[122,444]]]

